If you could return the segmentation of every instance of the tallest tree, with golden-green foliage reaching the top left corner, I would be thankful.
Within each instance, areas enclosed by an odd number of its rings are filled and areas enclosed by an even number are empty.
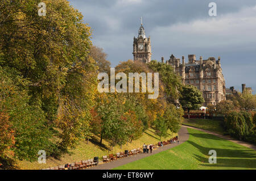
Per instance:
[[[54,142],[59,149],[90,137],[97,90],[91,30],[82,14],[67,0],[45,0],[47,15],[38,16],[39,2],[0,2],[0,67],[16,75],[11,79],[18,91],[10,100],[16,109],[7,114],[20,159],[35,159],[38,150],[47,150],[49,135],[59,140]],[[4,100],[10,103],[6,95]]]

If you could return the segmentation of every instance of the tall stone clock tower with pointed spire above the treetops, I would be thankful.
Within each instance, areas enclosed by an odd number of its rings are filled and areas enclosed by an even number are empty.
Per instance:
[[[133,59],[147,64],[151,61],[151,54],[150,36],[148,38],[146,37],[145,30],[141,22],[139,35],[137,38],[134,36],[133,40]]]

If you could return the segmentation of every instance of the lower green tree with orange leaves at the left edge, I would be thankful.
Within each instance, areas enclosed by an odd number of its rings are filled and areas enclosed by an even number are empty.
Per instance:
[[[20,77],[15,69],[0,66],[0,147],[3,146],[7,159],[35,161],[39,150],[49,155],[54,149],[40,102],[29,103],[30,96],[24,89],[28,84],[30,81]]]

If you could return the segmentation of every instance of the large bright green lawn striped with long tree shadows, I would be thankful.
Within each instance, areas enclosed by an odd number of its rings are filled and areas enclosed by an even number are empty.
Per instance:
[[[188,132],[183,144],[115,169],[256,169],[256,151],[195,129]],[[217,151],[217,163],[208,162],[209,150]]]

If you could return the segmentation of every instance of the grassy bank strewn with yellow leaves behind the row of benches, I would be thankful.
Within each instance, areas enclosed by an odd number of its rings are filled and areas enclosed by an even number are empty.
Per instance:
[[[170,139],[171,137],[176,136],[177,134],[168,132],[167,138],[162,138],[162,141]],[[102,159],[103,155],[115,154],[123,150],[131,150],[134,148],[142,147],[145,144],[156,144],[159,142],[159,136],[156,136],[154,129],[148,129],[146,133],[143,133],[143,136],[139,140],[129,142],[128,145],[123,145],[122,149],[120,146],[114,146],[113,150],[108,151],[109,143],[103,140],[103,146],[100,146],[100,137],[94,137],[92,140],[86,144],[86,141],[81,142],[76,149],[69,150],[70,154],[64,154],[60,159],[48,158],[46,164],[39,164],[38,162],[28,162],[28,161],[17,161],[16,169],[45,169],[48,167],[65,165],[66,163],[73,163],[76,161],[81,161],[82,159],[90,159],[93,157],[99,157]]]

